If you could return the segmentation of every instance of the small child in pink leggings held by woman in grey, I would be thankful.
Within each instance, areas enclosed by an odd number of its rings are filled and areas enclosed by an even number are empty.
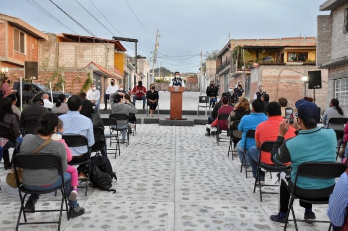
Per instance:
[[[57,133],[54,133],[51,136],[51,139],[64,144],[65,149],[67,150],[67,160],[68,160],[68,162],[70,162],[73,159],[73,154],[72,154],[71,150],[69,149],[68,145],[65,143],[65,140],[62,139],[62,135],[58,134],[58,133],[63,133],[63,131],[64,131],[63,121],[59,119]],[[71,185],[73,188],[73,190],[70,192],[68,199],[71,201],[76,201],[78,198],[78,185],[79,185],[78,171],[74,166],[68,165],[67,173],[71,174]]]

